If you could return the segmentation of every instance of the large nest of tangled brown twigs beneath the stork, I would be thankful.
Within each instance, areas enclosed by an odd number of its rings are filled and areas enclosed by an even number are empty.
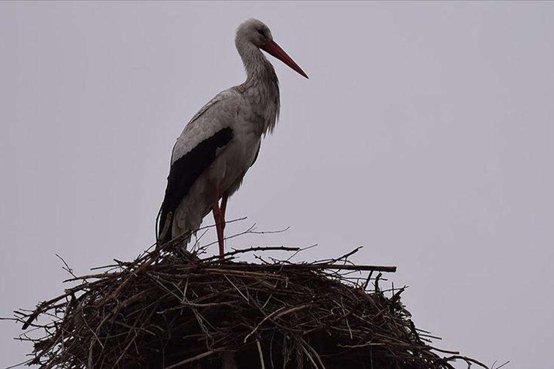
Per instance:
[[[453,368],[475,362],[430,346],[394,267],[347,256],[314,263],[179,254],[172,245],[69,279],[65,293],[16,311],[40,368]],[[277,247],[290,250],[290,248]],[[294,248],[293,248],[294,250]],[[68,271],[70,271],[68,267]],[[363,276],[361,271],[364,271]],[[352,273],[357,273],[353,276]],[[41,323],[45,321],[45,323]],[[37,336],[37,332],[40,334]]]

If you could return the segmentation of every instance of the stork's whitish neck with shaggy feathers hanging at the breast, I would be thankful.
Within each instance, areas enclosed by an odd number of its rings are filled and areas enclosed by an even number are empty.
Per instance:
[[[273,65],[252,43],[237,44],[247,79],[239,90],[247,97],[256,116],[263,117],[260,133],[273,131],[279,117],[279,80]]]

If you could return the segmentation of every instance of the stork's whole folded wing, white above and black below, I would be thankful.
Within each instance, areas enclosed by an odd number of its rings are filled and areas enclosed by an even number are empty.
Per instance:
[[[204,105],[184,127],[173,147],[167,188],[159,212],[158,235],[166,226],[166,217],[181,203],[196,179],[206,170],[233,138],[242,97],[225,90]],[[164,238],[171,240],[171,222]]]

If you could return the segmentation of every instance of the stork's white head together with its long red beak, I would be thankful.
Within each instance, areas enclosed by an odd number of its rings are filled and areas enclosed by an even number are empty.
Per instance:
[[[285,53],[285,50],[273,40],[271,30],[263,22],[258,19],[248,19],[237,28],[236,43],[240,44],[247,42],[253,44],[258,49],[264,50],[266,53],[275,56],[283,63],[291,67],[304,77],[308,77],[306,73],[295,63],[295,61]]]

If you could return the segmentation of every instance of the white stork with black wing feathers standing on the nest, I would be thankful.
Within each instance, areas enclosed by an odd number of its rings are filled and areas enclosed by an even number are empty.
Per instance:
[[[229,196],[238,190],[257,159],[261,137],[273,132],[279,117],[279,80],[260,50],[308,77],[275,43],[268,26],[260,20],[248,19],[239,25],[235,46],[247,79],[218,93],[184,127],[173,146],[157,219],[158,241],[167,242],[197,230],[211,210],[220,258]]]

